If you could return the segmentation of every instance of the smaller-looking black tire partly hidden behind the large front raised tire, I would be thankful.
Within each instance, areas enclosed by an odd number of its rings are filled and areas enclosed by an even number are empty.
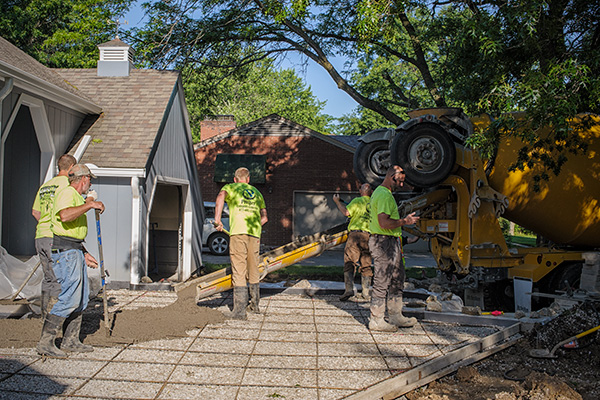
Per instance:
[[[361,183],[379,186],[391,165],[388,141],[359,142],[352,163],[354,174]]]

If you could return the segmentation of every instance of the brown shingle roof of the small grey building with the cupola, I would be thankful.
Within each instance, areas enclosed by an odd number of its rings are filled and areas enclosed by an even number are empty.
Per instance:
[[[134,69],[127,77],[99,77],[96,69],[55,71],[103,111],[82,123],[71,152],[83,135],[90,135],[92,142],[81,162],[103,168],[144,168],[179,72]]]

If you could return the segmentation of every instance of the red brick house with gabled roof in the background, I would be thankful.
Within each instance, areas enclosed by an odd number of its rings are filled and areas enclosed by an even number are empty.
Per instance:
[[[214,201],[233,182],[233,171],[246,166],[267,204],[263,244],[279,246],[331,228],[345,221],[331,195],[340,192],[349,201],[358,193],[352,139],[323,135],[275,114],[209,137],[194,146],[203,198]]]

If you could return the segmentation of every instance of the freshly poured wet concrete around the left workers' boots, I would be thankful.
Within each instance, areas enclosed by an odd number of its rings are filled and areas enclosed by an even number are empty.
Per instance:
[[[112,334],[107,335],[101,301],[92,301],[83,314],[81,337],[86,344],[111,346],[181,337],[186,331],[208,323],[224,321],[221,312],[199,307],[194,301],[195,287],[177,294],[177,300],[160,308],[122,310],[113,314]],[[40,338],[42,321],[33,319],[1,319],[0,347],[35,347]]]

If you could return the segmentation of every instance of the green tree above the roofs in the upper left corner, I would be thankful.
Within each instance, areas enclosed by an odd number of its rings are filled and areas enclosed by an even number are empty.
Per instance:
[[[132,0],[6,0],[0,35],[48,67],[92,68]]]

